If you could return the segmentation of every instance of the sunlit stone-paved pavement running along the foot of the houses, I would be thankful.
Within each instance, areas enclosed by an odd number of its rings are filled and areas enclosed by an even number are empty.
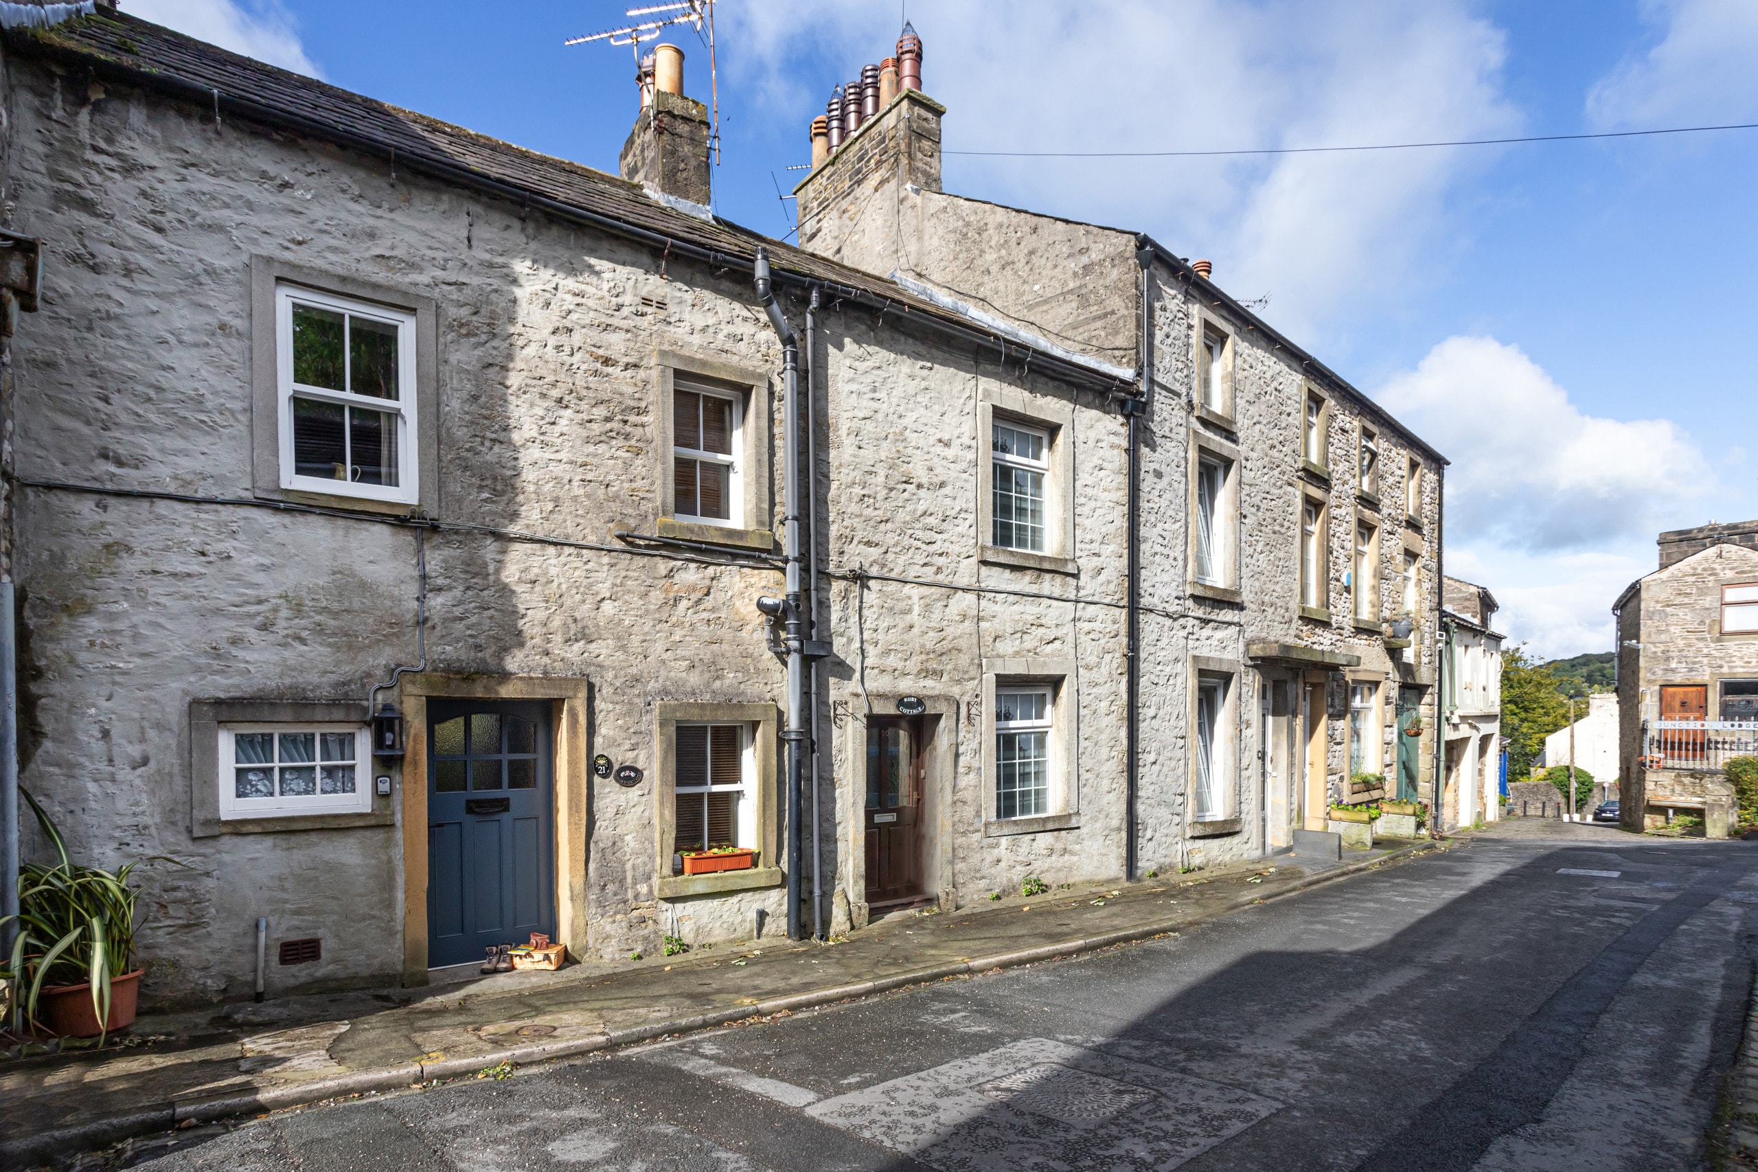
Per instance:
[[[102,1051],[0,1063],[0,1165],[1074,956],[1442,847],[1392,842],[1340,861],[1278,856],[1058,887],[951,914],[893,914],[833,942],[763,938],[554,973],[142,1016]]]

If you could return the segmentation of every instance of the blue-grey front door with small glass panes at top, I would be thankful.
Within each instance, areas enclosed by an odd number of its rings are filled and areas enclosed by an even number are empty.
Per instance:
[[[427,965],[556,937],[548,701],[427,701]]]

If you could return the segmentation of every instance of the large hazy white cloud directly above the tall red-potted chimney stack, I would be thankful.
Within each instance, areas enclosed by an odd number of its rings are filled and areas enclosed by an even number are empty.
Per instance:
[[[1494,135],[1519,127],[1501,95],[1503,35],[1466,0],[1018,0],[912,11],[926,91],[948,105],[946,148],[1213,149]],[[891,53],[895,9],[835,0],[728,5],[728,77],[800,123],[844,79]],[[1273,158],[993,160],[949,155],[948,190],[1151,232],[1215,260],[1276,325],[1318,344],[1327,327],[1396,307],[1406,278],[1445,264],[1447,200],[1486,153]],[[1436,264],[1436,253],[1442,255]],[[1422,264],[1419,265],[1419,258]]]

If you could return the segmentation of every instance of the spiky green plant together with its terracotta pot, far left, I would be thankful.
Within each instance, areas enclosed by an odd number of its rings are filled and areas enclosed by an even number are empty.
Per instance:
[[[30,1023],[56,1037],[90,1038],[98,1045],[111,1030],[134,1023],[141,972],[134,968],[139,887],[128,875],[148,859],[118,872],[77,866],[54,821],[28,791],[19,791],[58,863],[26,863],[18,875],[18,937],[5,975]],[[153,856],[162,863],[176,863]],[[5,921],[0,921],[5,922]]]

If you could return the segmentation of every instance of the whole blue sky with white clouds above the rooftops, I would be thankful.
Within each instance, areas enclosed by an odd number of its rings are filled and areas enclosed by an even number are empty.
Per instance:
[[[622,4],[123,0],[128,12],[615,170]],[[781,234],[830,88],[897,0],[721,0],[723,216]],[[909,5],[946,148],[1192,149],[1758,121],[1751,0]],[[686,88],[707,53],[684,30]],[[796,179],[798,174],[795,172]],[[1758,130],[1253,160],[949,155],[962,195],[1153,234],[1454,464],[1449,571],[1545,655],[1610,648],[1654,532],[1758,517]]]

